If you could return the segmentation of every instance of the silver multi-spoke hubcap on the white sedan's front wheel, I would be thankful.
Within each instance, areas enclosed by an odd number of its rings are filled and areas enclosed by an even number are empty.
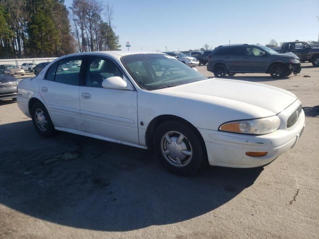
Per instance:
[[[169,131],[160,141],[161,152],[168,163],[184,167],[192,158],[192,148],[188,139],[180,132]]]

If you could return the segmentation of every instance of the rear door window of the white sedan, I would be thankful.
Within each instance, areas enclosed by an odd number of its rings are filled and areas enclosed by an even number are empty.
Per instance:
[[[56,68],[55,81],[68,85],[80,85],[82,57],[60,60]]]

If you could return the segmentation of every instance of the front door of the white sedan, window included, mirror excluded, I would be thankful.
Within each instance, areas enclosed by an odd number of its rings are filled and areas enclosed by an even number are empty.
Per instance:
[[[103,80],[119,76],[128,83],[126,89],[105,89]],[[85,83],[80,87],[80,113],[86,132],[138,144],[137,92],[121,68],[111,59],[90,56]]]

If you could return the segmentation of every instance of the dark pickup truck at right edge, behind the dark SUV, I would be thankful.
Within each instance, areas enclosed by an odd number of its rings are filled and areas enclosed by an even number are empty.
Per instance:
[[[279,53],[293,52],[301,62],[309,61],[319,67],[319,48],[311,47],[307,42],[292,41],[284,42],[281,49],[274,49]]]

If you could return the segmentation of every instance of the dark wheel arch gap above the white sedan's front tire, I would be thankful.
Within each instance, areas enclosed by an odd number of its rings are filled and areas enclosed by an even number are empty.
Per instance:
[[[174,116],[174,115],[160,115],[160,116],[157,116],[156,118],[151,120],[151,122],[149,123],[149,125],[146,129],[146,133],[145,133],[145,142],[146,142],[146,146],[148,148],[150,148],[150,149],[153,148],[154,133],[155,133],[156,129],[158,128],[158,126],[165,121],[181,122],[181,123],[184,123],[185,125],[187,125],[189,128],[191,128],[195,132],[195,134],[198,136],[201,144],[203,145],[204,155],[207,158],[206,144],[205,144],[205,141],[204,141],[202,135],[198,131],[198,129],[192,123],[187,121],[186,119],[183,119],[181,117]]]

